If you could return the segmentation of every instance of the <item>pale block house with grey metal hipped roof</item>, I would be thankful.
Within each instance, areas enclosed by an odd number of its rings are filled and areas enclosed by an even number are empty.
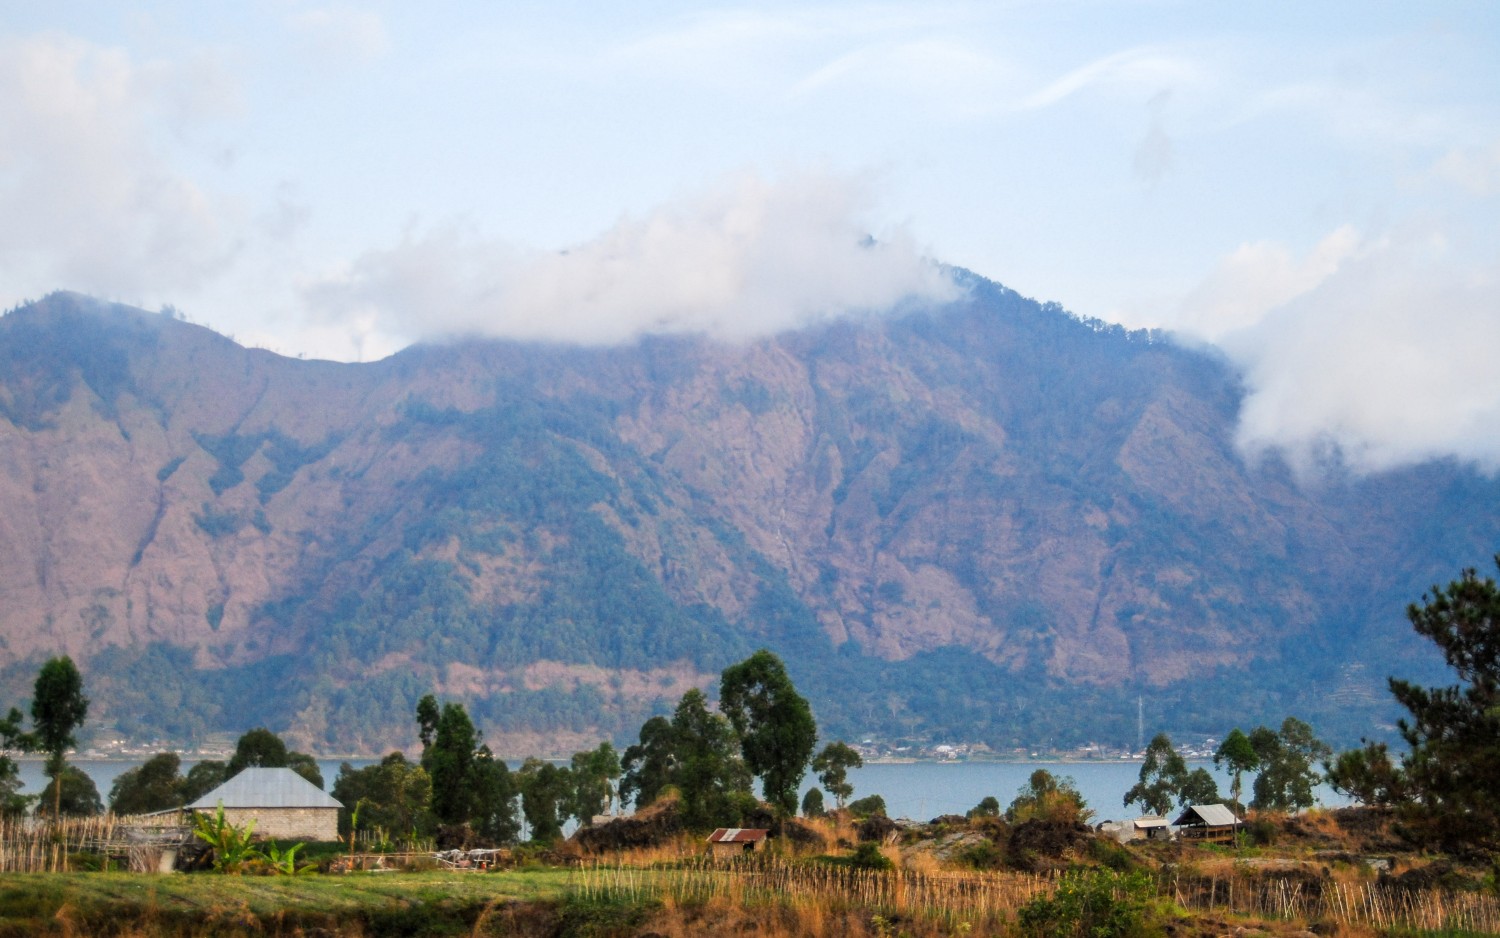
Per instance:
[[[255,834],[273,840],[338,840],[338,798],[291,768],[246,768],[192,804],[186,813],[224,804],[231,824],[255,821]]]

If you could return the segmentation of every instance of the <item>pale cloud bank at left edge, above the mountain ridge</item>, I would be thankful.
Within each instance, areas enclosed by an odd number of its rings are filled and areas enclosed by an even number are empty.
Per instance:
[[[220,227],[230,207],[154,140],[234,107],[201,60],[138,65],[56,35],[0,41],[0,275],[10,290],[158,296],[222,270],[236,251]]]

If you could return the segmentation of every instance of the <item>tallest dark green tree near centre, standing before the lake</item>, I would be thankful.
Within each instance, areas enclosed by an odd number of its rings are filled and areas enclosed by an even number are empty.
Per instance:
[[[780,816],[796,813],[796,792],[818,741],[818,723],[782,659],[765,648],[724,668],[718,705],[740,735],[746,765]]]

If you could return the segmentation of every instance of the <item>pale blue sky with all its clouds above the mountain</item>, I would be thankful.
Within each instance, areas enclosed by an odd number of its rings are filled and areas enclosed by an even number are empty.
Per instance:
[[[1500,471],[1500,5],[0,2],[0,306],[280,354],[742,339],[960,266],[1239,443]]]

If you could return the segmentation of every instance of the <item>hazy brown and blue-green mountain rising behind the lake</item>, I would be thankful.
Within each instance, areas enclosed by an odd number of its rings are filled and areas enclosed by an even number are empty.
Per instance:
[[[1202,353],[996,284],[744,345],[246,350],[54,294],[0,318],[0,659],[78,659],[106,735],[256,723],[501,752],[632,734],[756,647],[825,735],[1353,738],[1402,608],[1500,548],[1454,464],[1246,464]],[[1416,662],[1416,663],[1414,663]],[[117,732],[116,732],[117,731]]]

